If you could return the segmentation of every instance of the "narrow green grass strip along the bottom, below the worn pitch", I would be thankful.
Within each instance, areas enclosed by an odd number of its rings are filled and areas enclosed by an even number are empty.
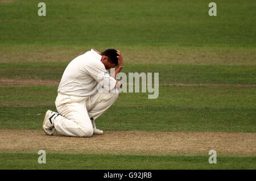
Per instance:
[[[37,153],[0,153],[0,169],[255,169],[255,157],[143,156],[46,154],[46,164],[39,164]]]

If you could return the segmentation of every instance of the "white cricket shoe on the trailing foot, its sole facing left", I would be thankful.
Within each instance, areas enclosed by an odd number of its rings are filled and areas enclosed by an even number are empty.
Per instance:
[[[46,132],[46,134],[52,135],[55,133],[56,129],[54,128],[53,123],[53,116],[57,116],[57,112],[53,111],[46,111],[46,116],[44,116],[44,122],[43,122],[43,131]]]

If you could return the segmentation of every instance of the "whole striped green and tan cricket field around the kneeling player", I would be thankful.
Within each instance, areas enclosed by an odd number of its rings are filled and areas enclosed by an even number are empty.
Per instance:
[[[0,0],[0,169],[256,169],[255,1],[216,0],[217,16],[204,0],[44,2],[46,16],[38,16],[38,1]],[[126,74],[159,73],[159,97],[120,93],[96,120],[105,135],[72,140],[72,149],[71,138],[33,136],[45,112],[56,111],[65,67],[91,48],[121,50]],[[130,131],[187,142],[136,143]],[[119,132],[131,142],[97,145]],[[49,141],[32,147],[29,135]],[[36,149],[47,151],[46,164]],[[210,149],[217,164],[208,163]]]

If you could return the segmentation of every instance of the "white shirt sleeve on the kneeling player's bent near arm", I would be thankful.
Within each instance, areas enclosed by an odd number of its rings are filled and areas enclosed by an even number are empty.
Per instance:
[[[86,64],[84,69],[99,83],[100,89],[102,88],[104,91],[110,92],[115,89],[117,81],[110,77],[109,72],[101,64],[101,62],[94,61],[94,63]]]

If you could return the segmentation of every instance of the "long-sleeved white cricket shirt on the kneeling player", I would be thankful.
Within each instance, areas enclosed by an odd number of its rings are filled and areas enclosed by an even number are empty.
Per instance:
[[[104,90],[109,91],[114,88],[116,80],[110,77],[105,69],[101,55],[91,49],[69,62],[62,75],[58,92],[73,96],[90,96],[96,94],[99,83],[104,85]]]

